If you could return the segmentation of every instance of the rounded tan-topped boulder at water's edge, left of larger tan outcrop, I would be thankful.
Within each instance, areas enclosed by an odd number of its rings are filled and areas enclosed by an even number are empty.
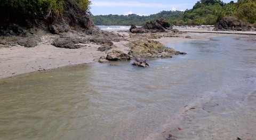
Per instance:
[[[110,61],[127,61],[131,60],[131,56],[122,51],[113,50],[107,54],[106,59]]]

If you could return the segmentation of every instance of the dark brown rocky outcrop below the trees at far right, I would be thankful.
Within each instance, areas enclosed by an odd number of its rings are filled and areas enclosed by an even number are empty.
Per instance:
[[[225,17],[213,29],[215,31],[256,31],[255,27],[249,23],[238,20],[234,17]]]

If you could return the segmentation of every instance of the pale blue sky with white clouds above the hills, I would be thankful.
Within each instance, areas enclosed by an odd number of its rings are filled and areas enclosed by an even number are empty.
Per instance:
[[[199,0],[91,0],[91,13],[93,15],[150,15],[161,11],[185,11],[192,9]],[[229,3],[231,0],[223,0]],[[237,2],[237,0],[234,0]]]

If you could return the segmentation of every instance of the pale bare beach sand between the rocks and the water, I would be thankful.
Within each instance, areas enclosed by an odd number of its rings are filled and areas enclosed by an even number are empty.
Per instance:
[[[118,33],[120,35],[129,35],[128,32],[117,32],[117,30],[108,31]],[[156,40],[164,45],[169,45],[193,40],[209,40],[210,38],[221,36],[247,36],[241,34],[214,34],[212,32],[207,32],[207,30],[206,32],[189,32],[189,30],[186,31],[186,29],[182,29],[180,31],[184,31],[185,33],[178,35],[178,37],[162,37],[153,40]],[[186,36],[190,36],[191,38],[185,38]],[[111,50],[120,50],[127,53],[129,52],[129,47],[126,46],[128,42],[129,41],[113,42],[117,47]],[[85,47],[72,50],[54,47],[50,45],[50,43],[39,44],[40,45],[32,48],[19,45],[8,47],[0,45],[0,79],[23,75],[30,72],[47,71],[78,64],[88,64],[94,62],[98,63],[100,56],[107,55],[106,52],[97,51],[100,45],[92,43],[84,44]]]

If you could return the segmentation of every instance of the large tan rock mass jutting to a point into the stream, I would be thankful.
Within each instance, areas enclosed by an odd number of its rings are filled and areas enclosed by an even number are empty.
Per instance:
[[[172,55],[186,54],[185,52],[175,51],[173,48],[166,47],[154,40],[137,40],[130,42],[130,55],[149,58],[169,58]]]

